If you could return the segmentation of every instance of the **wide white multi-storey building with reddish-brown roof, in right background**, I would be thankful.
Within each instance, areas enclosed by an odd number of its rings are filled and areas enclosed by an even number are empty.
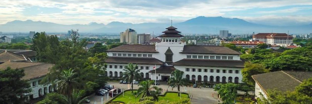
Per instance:
[[[270,45],[287,47],[292,44],[293,37],[285,33],[258,33],[253,35],[252,39]]]

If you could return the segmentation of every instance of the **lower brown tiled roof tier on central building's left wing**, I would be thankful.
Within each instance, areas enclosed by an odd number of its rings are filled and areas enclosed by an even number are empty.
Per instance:
[[[108,57],[105,60],[106,63],[120,63],[120,64],[150,64],[150,65],[162,65],[164,62],[156,58],[136,58],[136,57]]]

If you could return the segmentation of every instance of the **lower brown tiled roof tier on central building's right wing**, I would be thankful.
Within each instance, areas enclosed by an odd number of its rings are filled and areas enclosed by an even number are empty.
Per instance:
[[[182,59],[173,62],[171,65],[179,66],[211,66],[211,67],[228,67],[228,68],[244,68],[244,61],[232,60],[203,60],[203,59]]]

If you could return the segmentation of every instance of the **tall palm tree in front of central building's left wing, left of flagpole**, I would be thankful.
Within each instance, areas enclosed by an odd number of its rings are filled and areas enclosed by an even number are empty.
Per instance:
[[[137,69],[137,65],[133,65],[132,63],[129,63],[128,66],[123,69],[125,72],[122,73],[123,80],[126,80],[127,82],[131,83],[131,93],[133,93],[133,83],[132,81],[142,79],[141,75],[139,74],[140,70]]]

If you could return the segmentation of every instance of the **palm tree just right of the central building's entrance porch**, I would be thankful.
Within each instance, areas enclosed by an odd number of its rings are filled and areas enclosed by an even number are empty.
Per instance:
[[[169,81],[168,81],[168,85],[171,86],[172,88],[177,87],[178,92],[180,92],[180,86],[183,87],[183,86],[188,85],[188,79],[183,78],[183,73],[184,73],[183,71],[174,70],[171,73],[171,77],[169,78]],[[178,93],[178,96],[179,96],[179,93]]]

